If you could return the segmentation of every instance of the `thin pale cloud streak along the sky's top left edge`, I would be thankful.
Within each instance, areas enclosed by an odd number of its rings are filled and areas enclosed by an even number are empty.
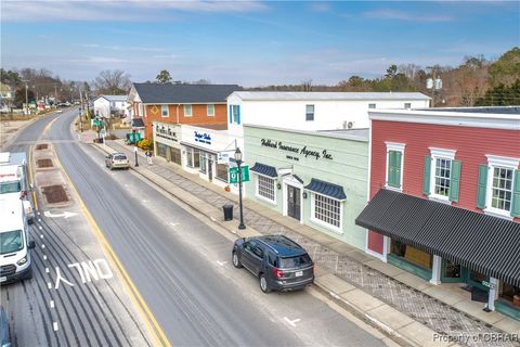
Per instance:
[[[245,13],[264,11],[258,0],[68,0],[2,1],[2,22],[145,22],[171,21],[180,13]]]

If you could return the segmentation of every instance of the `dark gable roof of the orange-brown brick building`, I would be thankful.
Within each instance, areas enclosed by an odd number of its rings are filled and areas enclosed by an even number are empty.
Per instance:
[[[227,95],[242,90],[238,85],[160,85],[133,83],[145,104],[225,103]]]

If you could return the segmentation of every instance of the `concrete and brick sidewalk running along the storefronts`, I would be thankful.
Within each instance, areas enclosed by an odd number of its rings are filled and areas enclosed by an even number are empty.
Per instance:
[[[83,140],[91,143],[88,138]],[[123,152],[133,162],[133,147],[121,140],[99,146]],[[469,295],[431,285],[248,200],[244,201],[247,229],[238,230],[236,195],[162,158],[154,157],[155,164],[150,166],[144,154],[139,155],[140,166],[132,169],[237,236],[280,233],[301,244],[316,262],[316,286],[396,342],[410,346],[520,346],[520,323],[483,312]],[[235,220],[225,222],[221,206],[230,203],[235,206]],[[496,340],[499,337],[503,339]],[[504,340],[507,337],[516,340]]]

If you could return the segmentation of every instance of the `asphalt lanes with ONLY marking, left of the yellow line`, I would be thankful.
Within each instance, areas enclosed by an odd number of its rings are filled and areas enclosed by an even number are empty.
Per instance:
[[[77,114],[77,110],[67,114]],[[43,130],[58,116],[49,115],[29,125],[5,150],[28,152],[38,141],[51,147]],[[43,180],[56,175],[60,172],[51,169],[41,172]],[[12,346],[152,346],[142,318],[108,268],[74,197],[61,207],[40,200],[39,207],[41,215],[29,228],[37,244],[31,250],[34,278],[0,287]],[[74,217],[51,218],[44,214],[57,216],[65,209]],[[79,272],[80,267],[94,264],[104,270],[104,279],[91,273],[83,283],[86,271],[81,268]],[[57,271],[70,284],[58,280]]]

